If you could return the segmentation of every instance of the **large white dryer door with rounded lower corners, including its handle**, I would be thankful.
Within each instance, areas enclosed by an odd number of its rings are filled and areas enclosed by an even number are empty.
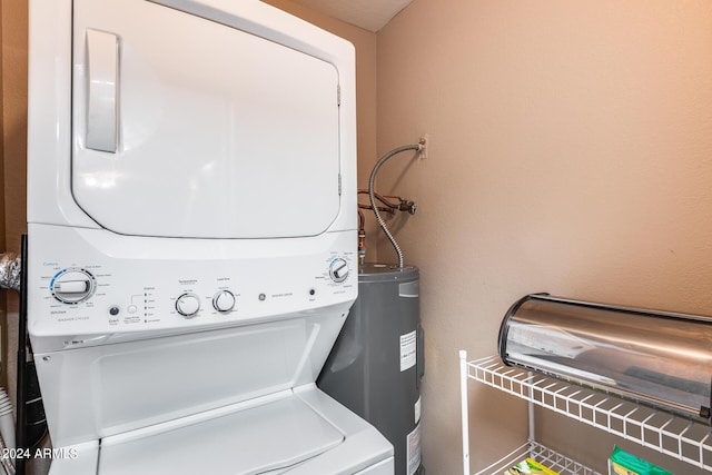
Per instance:
[[[201,11],[75,0],[76,201],[126,235],[324,232],[339,210],[337,69]]]

